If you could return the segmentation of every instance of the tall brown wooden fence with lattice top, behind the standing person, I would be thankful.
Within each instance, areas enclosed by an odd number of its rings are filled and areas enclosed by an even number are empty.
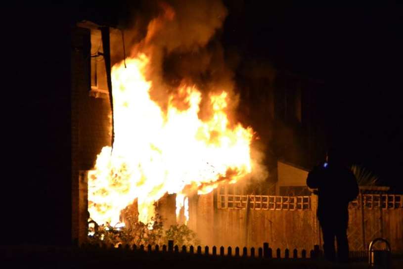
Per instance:
[[[203,225],[214,223],[203,244],[258,247],[269,242],[275,248],[308,249],[322,245],[316,219],[317,196],[237,195],[216,192],[214,214]],[[214,201],[213,196],[211,199]],[[211,203],[205,203],[209,207]],[[203,208],[204,208],[203,207]],[[206,211],[202,211],[204,216]],[[386,238],[403,253],[403,195],[360,194],[349,205],[348,237],[352,251],[365,251],[376,237]],[[198,219],[198,221],[200,221]],[[199,234],[199,228],[196,229]]]

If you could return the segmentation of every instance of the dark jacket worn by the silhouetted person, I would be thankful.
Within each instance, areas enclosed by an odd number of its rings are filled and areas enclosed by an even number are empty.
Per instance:
[[[329,164],[315,167],[307,185],[318,190],[317,216],[320,220],[348,218],[348,204],[358,195],[357,179],[351,170]]]

